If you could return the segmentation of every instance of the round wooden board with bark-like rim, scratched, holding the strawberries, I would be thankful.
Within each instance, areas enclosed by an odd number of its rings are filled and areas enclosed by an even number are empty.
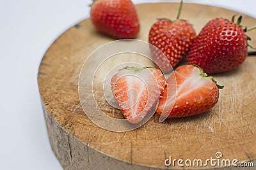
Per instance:
[[[178,7],[177,3],[137,5],[141,23],[138,39],[147,41],[148,31],[156,18],[174,18]],[[230,18],[234,14],[237,12],[184,4],[181,18],[189,20],[199,32],[212,18]],[[243,16],[243,25],[256,24],[255,18]],[[248,36],[256,39],[255,33],[248,32]],[[164,160],[169,157],[216,159],[216,152],[222,153],[221,159],[239,162],[255,159],[255,57],[248,57],[234,71],[214,75],[225,89],[220,90],[220,99],[210,111],[163,123],[154,115],[134,131],[111,132],[86,117],[77,83],[81,67],[90,53],[113,40],[97,32],[90,19],[86,19],[56,39],[40,64],[38,86],[47,131],[52,150],[64,169],[161,169],[166,168]],[[255,41],[250,44],[256,46]],[[212,166],[208,164],[207,167]]]

